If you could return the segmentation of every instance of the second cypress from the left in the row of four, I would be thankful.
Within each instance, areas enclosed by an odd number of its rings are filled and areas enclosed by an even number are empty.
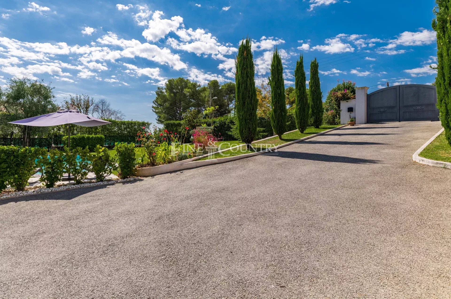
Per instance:
[[[277,49],[272,54],[269,84],[271,85],[271,127],[279,138],[282,138],[282,135],[286,131],[287,115],[282,59]]]

